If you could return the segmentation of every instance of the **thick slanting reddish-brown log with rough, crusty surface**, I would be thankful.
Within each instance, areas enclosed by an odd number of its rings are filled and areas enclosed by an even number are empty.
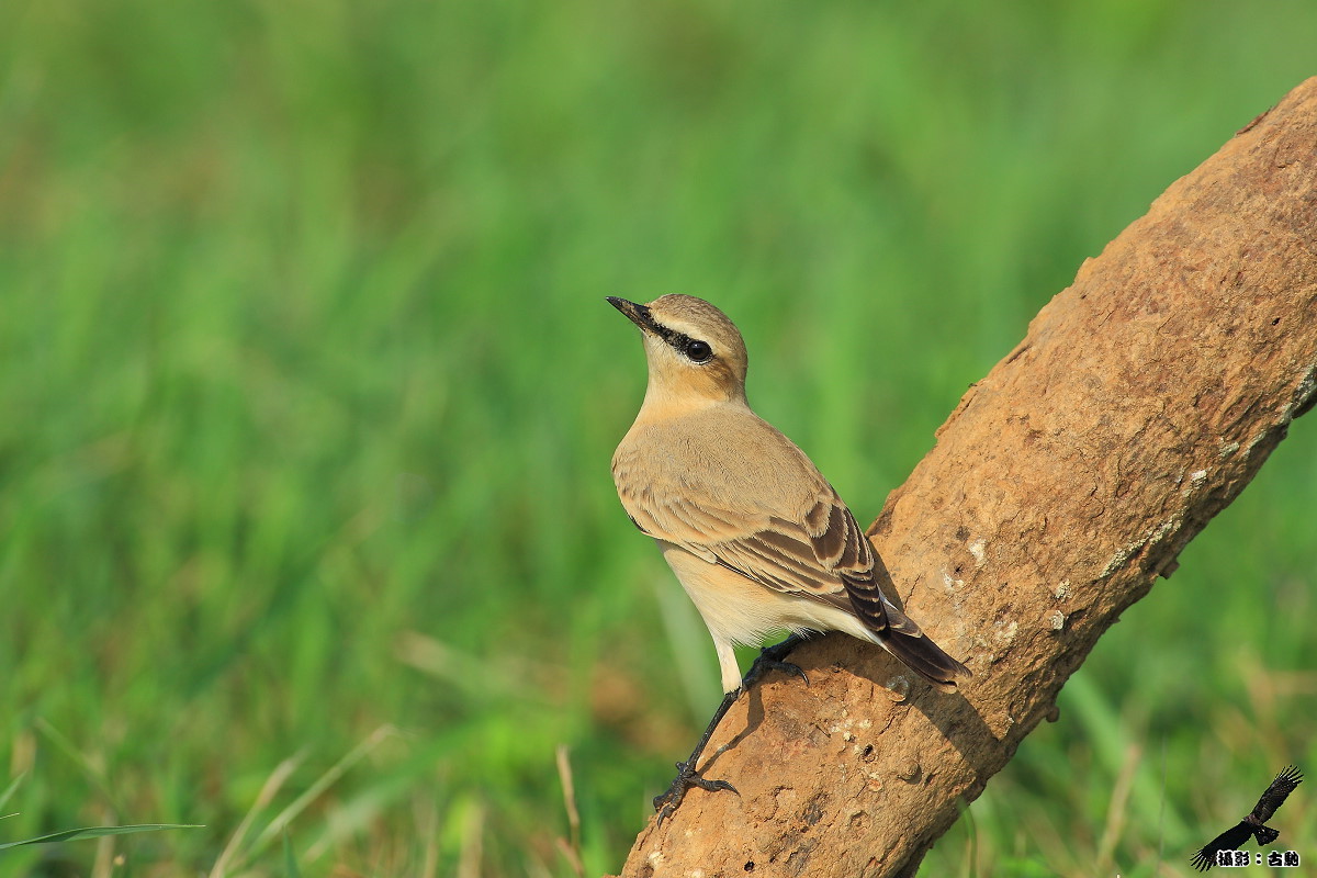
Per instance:
[[[1177,180],[960,400],[871,538],[973,679],[840,634],[741,696],[627,877],[907,875],[1317,396],[1317,78]]]

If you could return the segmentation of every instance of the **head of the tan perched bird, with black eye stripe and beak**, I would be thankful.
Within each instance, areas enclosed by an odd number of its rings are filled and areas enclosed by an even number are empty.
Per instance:
[[[678,294],[645,305],[608,296],[608,304],[640,328],[649,361],[647,405],[745,401],[745,342],[722,311]]]

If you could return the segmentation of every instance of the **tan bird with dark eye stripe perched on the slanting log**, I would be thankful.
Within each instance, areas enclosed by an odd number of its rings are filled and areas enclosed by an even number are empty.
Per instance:
[[[840,631],[877,644],[934,687],[955,692],[971,677],[878,587],[873,546],[810,458],[763,420],[745,398],[745,342],[715,305],[664,295],[648,304],[608,296],[639,329],[648,362],[640,413],[612,457],[618,496],[657,542],[712,636],[723,700],[677,778],[655,798],[658,821],[690,787],[731,790],[695,770],[738,695],[809,632]],[[734,646],[764,649],[743,678]]]

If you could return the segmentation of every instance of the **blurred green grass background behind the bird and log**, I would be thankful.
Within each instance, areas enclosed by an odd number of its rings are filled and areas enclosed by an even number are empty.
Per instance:
[[[558,745],[618,869],[718,684],[614,495],[644,367],[603,296],[723,307],[872,520],[1314,34],[1299,0],[0,4],[0,841],[205,824],[0,874],[277,875],[286,829],[308,875],[570,875]],[[1317,771],[1314,505],[1300,421],[922,874],[1185,874]],[[1276,825],[1314,862],[1308,786]]]

